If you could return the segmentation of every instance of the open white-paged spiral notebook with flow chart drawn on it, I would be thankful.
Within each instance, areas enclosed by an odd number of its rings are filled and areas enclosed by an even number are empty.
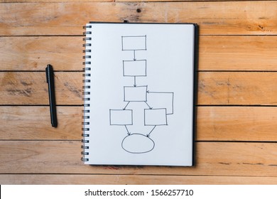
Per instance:
[[[197,25],[87,23],[82,161],[194,164]]]

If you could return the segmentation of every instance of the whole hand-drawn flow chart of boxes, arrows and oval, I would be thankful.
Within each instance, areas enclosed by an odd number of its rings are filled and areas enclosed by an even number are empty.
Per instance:
[[[124,85],[123,99],[126,102],[122,109],[109,109],[109,124],[124,126],[127,136],[121,142],[121,147],[131,154],[144,154],[152,151],[155,142],[151,139],[151,134],[158,131],[158,126],[168,125],[168,115],[173,114],[173,92],[151,92],[148,85],[138,85],[137,78],[147,76],[147,60],[136,59],[139,50],[146,49],[146,36],[121,36],[122,51],[133,51],[132,60],[123,60],[123,76],[134,78],[134,85]],[[151,66],[150,66],[151,67]],[[151,78],[151,77],[148,77]],[[148,99],[151,104],[148,104]],[[133,129],[134,110],[128,109],[130,104],[143,103],[144,127],[146,130]],[[151,129],[149,130],[149,127]],[[157,128],[156,128],[157,127]],[[140,131],[140,132],[137,132]],[[157,132],[158,133],[158,132]]]

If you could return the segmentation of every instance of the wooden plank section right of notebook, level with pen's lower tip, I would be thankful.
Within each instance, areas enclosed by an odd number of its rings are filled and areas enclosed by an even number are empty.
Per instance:
[[[197,107],[198,141],[277,141],[276,107]]]

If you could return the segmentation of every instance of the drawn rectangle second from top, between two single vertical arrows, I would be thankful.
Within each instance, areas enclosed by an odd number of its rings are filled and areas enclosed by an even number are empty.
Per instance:
[[[123,75],[146,76],[146,60],[123,60]]]

